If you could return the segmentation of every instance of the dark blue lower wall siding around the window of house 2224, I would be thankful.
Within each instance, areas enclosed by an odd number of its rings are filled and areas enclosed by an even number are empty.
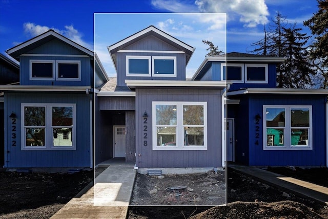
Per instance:
[[[259,145],[254,145],[254,116],[262,117],[263,105],[311,105],[313,150],[263,150],[263,119],[260,120]],[[254,96],[249,106],[250,165],[251,166],[324,166],[326,154],[325,101],[324,97],[314,95],[295,96]],[[253,134],[252,134],[253,133]]]

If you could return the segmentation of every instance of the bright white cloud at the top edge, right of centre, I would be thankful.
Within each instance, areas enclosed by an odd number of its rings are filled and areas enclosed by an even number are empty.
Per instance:
[[[196,0],[194,5],[182,0],[153,0],[152,5],[176,13],[227,13],[228,22],[239,19],[241,23],[244,23],[244,27],[256,27],[258,24],[269,22],[269,11],[264,0]],[[211,22],[213,29],[222,27],[217,19],[212,19]]]

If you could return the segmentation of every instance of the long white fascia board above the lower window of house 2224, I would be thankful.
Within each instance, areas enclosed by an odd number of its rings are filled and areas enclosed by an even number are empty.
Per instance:
[[[230,91],[227,96],[240,94],[322,94],[328,95],[327,89],[297,89],[297,88],[248,88]]]

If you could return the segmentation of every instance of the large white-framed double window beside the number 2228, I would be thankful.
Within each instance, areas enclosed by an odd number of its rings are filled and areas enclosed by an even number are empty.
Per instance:
[[[207,150],[207,103],[153,102],[153,150]]]

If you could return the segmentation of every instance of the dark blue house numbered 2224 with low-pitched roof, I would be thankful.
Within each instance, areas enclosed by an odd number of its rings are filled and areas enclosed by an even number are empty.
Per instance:
[[[194,75],[220,80],[227,72],[233,82],[227,93],[227,161],[328,166],[328,90],[276,88],[276,65],[284,60],[232,52],[208,57]]]

